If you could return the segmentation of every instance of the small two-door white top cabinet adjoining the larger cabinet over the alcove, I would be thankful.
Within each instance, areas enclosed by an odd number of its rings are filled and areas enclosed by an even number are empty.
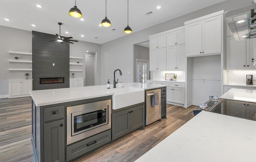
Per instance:
[[[166,34],[166,47],[185,43],[185,29]]]

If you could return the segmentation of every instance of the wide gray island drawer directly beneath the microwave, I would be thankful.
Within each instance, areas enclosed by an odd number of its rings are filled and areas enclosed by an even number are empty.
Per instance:
[[[66,161],[86,154],[111,141],[111,129],[66,147]]]

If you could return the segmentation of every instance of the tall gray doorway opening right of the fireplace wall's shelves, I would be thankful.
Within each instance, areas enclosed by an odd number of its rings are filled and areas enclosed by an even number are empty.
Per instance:
[[[96,52],[85,52],[85,86],[95,85]]]

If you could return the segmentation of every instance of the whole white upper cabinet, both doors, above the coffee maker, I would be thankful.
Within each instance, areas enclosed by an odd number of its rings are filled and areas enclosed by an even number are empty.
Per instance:
[[[236,41],[227,37],[226,69],[255,69],[256,39]]]

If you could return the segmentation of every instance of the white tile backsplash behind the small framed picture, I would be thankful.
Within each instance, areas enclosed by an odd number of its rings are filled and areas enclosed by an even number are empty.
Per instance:
[[[166,73],[174,73],[177,75],[177,81],[185,81],[185,71],[153,71],[152,80],[165,80]]]

